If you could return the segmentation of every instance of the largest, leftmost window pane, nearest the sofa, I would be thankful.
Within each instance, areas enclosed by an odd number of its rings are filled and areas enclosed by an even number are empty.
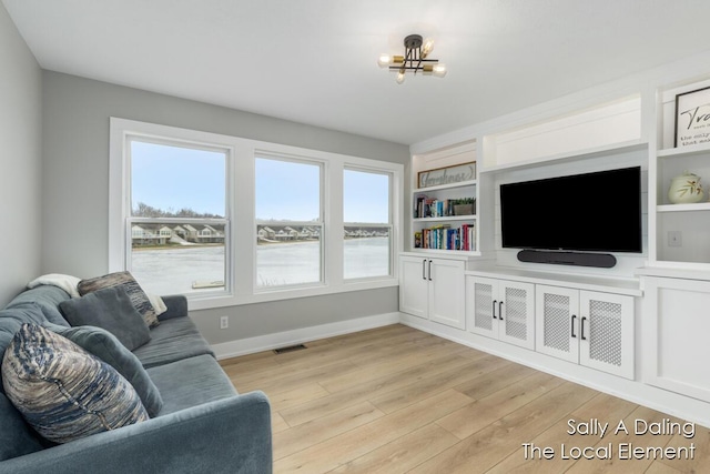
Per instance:
[[[128,138],[126,268],[155,294],[224,291],[227,151]]]

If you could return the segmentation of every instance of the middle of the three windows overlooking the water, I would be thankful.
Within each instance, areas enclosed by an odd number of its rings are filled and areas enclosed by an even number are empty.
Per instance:
[[[256,288],[323,282],[322,165],[255,160]]]

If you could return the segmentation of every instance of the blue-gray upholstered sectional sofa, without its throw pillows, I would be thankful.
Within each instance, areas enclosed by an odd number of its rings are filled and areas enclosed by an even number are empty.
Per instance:
[[[69,326],[52,285],[20,293],[0,311],[0,355],[23,323]],[[184,296],[164,296],[168,311],[133,354],[158,387],[162,409],[150,420],[54,444],[42,438],[0,383],[0,473],[271,473],[268,400],[237,394],[187,316]]]

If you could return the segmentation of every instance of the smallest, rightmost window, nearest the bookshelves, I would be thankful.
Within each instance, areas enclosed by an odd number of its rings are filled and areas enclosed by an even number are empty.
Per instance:
[[[390,173],[343,173],[345,280],[392,275],[390,182]]]

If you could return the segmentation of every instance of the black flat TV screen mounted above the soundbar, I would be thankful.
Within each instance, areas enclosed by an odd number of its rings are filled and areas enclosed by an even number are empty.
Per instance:
[[[641,252],[641,169],[500,185],[503,246]]]

